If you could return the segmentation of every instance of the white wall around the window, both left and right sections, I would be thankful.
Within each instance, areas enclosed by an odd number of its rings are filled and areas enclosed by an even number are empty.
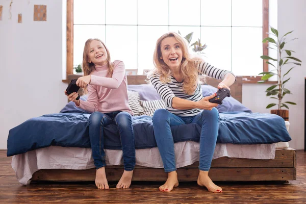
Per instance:
[[[275,1],[275,0],[274,0]],[[30,3],[29,3],[30,2]],[[64,1],[65,2],[65,1]],[[291,71],[287,88],[297,103],[290,106],[290,146],[304,148],[304,77],[306,77],[306,1],[278,0],[277,28],[280,34],[294,30],[296,41],[288,48],[296,51],[302,67]],[[0,149],[7,148],[8,132],[23,121],[48,113],[57,113],[66,104],[62,83],[65,69],[65,3],[61,0],[14,1],[12,19],[9,20],[8,0],[0,21]],[[33,21],[34,4],[47,5],[47,21]],[[64,5],[64,6],[63,6]],[[22,13],[22,23],[17,23],[17,13]],[[63,19],[64,18],[64,19]],[[63,24],[64,23],[64,24]],[[253,112],[269,113],[265,107],[272,103],[265,95],[270,85],[244,84],[243,104]]]

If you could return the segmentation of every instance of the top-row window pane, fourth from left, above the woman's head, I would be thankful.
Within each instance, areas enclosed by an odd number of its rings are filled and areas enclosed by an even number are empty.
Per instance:
[[[169,0],[170,25],[200,25],[200,0]]]

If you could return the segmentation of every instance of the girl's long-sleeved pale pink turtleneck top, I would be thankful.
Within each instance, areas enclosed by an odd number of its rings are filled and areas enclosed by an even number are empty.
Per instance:
[[[88,99],[87,101],[80,100],[79,107],[88,112],[125,111],[134,115],[128,103],[124,63],[115,60],[113,65],[112,78],[109,77],[107,64],[96,66],[96,70],[90,73],[91,81],[87,86]]]

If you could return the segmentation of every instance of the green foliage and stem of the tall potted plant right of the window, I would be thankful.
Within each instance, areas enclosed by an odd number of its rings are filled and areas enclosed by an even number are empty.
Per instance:
[[[261,81],[258,81],[258,83],[264,83],[266,82],[269,78],[273,77],[274,75],[277,76],[277,84],[270,86],[267,88],[267,96],[271,96],[270,98],[278,100],[278,103],[272,103],[269,104],[266,108],[271,108],[273,106],[278,106],[278,110],[281,110],[282,107],[285,107],[289,109],[287,104],[291,105],[296,105],[295,103],[291,101],[286,101],[285,103],[282,102],[284,96],[286,94],[292,94],[290,90],[286,89],[286,83],[290,80],[290,77],[288,76],[289,72],[295,67],[291,67],[288,65],[297,65],[301,66],[301,61],[295,57],[292,56],[292,53],[295,53],[293,50],[289,50],[285,48],[285,45],[297,38],[293,38],[289,41],[286,41],[286,36],[291,34],[293,31],[290,31],[280,37],[278,35],[278,31],[274,28],[271,27],[272,33],[269,33],[273,36],[267,37],[263,39],[263,43],[269,42],[269,48],[275,49],[277,51],[277,59],[273,59],[269,56],[263,55],[261,56],[262,59],[264,60],[273,60],[276,62],[276,66],[270,63],[269,61],[266,61],[267,64],[270,64],[273,66],[275,69],[269,71],[269,72],[262,72],[260,74],[263,74]],[[289,68],[290,67],[290,68]],[[284,74],[285,73],[285,74]]]

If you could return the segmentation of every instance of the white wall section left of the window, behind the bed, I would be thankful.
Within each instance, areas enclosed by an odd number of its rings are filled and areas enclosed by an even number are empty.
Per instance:
[[[7,149],[14,126],[58,113],[67,103],[67,85],[62,82],[65,4],[61,0],[13,1],[9,19],[10,2],[0,0],[0,149]],[[47,21],[33,21],[34,5],[47,5]],[[22,23],[17,22],[18,13]]]

